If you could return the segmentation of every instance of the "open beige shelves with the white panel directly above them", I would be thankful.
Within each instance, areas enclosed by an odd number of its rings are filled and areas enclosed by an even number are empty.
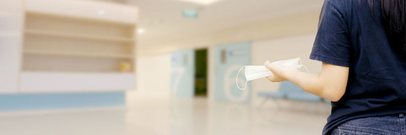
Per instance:
[[[23,72],[134,75],[137,8],[76,0],[26,1]],[[106,14],[99,15],[99,10]]]

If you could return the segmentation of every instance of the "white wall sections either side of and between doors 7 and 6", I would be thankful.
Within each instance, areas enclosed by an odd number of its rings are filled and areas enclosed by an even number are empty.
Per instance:
[[[271,62],[300,57],[310,73],[321,70],[321,62],[310,60],[315,33],[286,36],[275,39],[252,42],[252,65],[263,65],[266,60]],[[208,48],[208,98],[214,99],[214,46]],[[137,59],[137,89],[127,93],[128,100],[162,99],[170,97],[171,54]],[[302,68],[304,71],[304,68]],[[271,83],[266,78],[251,82],[252,103],[258,104],[262,98],[257,96],[260,91],[276,92],[279,83]]]

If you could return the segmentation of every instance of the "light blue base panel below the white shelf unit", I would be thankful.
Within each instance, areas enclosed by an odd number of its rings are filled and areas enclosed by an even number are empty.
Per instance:
[[[0,95],[0,111],[125,105],[125,92]]]

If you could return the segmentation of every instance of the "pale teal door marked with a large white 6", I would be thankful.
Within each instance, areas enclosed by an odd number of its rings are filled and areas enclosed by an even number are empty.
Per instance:
[[[216,58],[216,88],[215,99],[249,103],[251,99],[250,87],[241,90],[235,84],[235,77],[239,69],[244,65],[251,64],[250,42],[239,42],[225,44],[215,48]],[[245,85],[246,79],[240,75],[238,79],[240,86]]]

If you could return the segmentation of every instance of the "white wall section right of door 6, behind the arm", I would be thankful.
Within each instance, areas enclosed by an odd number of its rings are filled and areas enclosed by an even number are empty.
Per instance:
[[[259,40],[252,42],[252,65],[263,65],[266,60],[270,62],[300,57],[302,64],[306,65],[310,73],[321,71],[321,62],[310,60],[313,42],[316,33],[286,36],[276,39]],[[302,68],[302,71],[305,71]],[[271,83],[266,78],[251,82],[252,103],[258,103],[261,98],[257,96],[260,91],[276,92],[279,83]]]

